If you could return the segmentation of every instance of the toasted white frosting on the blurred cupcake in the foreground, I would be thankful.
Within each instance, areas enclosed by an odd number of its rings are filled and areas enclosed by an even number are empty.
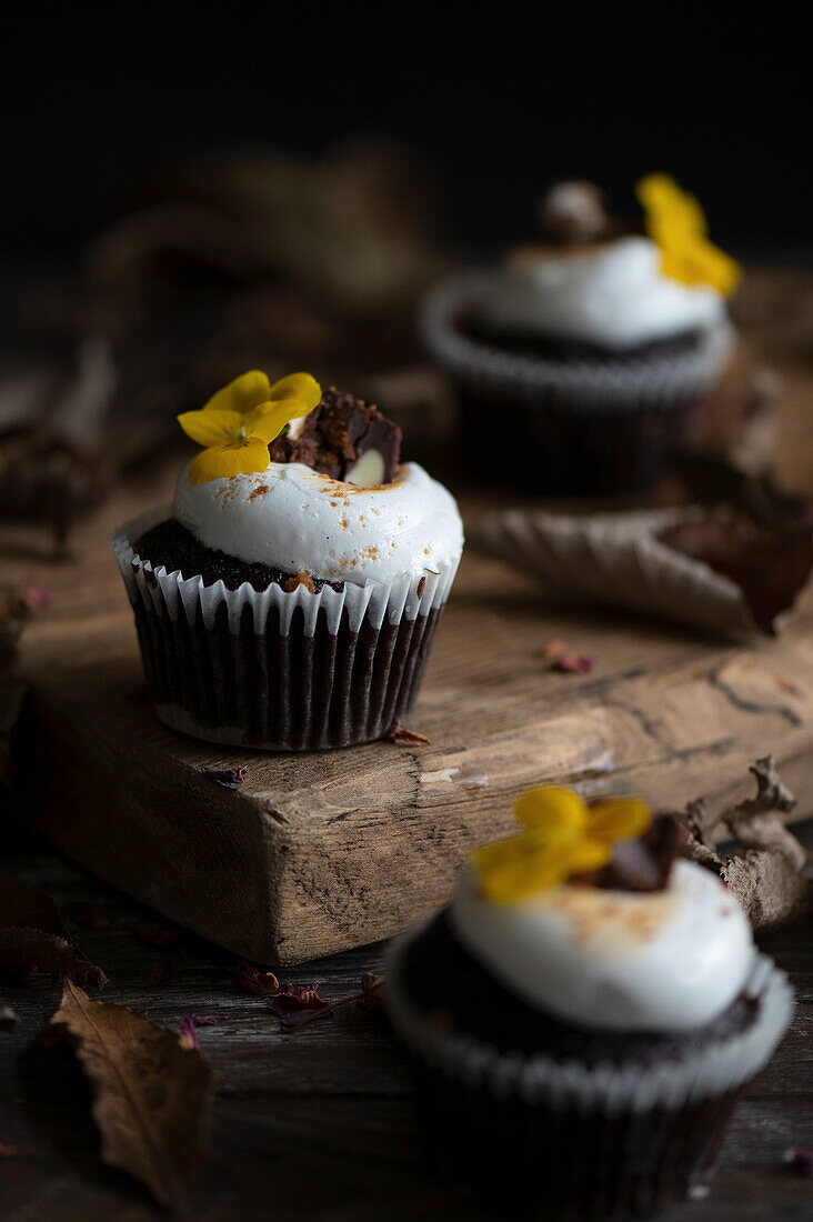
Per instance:
[[[742,991],[756,953],[735,897],[685,860],[664,891],[560,886],[517,903],[483,899],[469,868],[449,916],[462,945],[517,997],[605,1030],[703,1026]]]

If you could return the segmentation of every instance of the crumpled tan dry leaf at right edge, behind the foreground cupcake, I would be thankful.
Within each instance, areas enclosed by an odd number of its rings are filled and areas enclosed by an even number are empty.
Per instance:
[[[773,756],[756,760],[757,794],[712,816],[702,799],[686,808],[686,855],[720,875],[746,909],[754,929],[780,925],[813,902],[809,854],[785,825],[796,805]],[[734,837],[742,851],[720,854],[718,838]]]

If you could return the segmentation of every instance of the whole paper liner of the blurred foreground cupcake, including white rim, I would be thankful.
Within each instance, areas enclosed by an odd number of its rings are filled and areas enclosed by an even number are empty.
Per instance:
[[[792,1014],[787,976],[757,956],[746,989],[759,1002],[751,1026],[680,1062],[589,1068],[505,1053],[433,1025],[413,1003],[401,963],[419,932],[390,947],[386,1008],[417,1067],[428,1151],[506,1212],[649,1216],[682,1200],[708,1178],[738,1092]]]

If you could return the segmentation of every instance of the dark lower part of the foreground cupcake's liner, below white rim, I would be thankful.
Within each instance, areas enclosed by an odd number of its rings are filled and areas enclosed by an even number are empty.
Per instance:
[[[586,1116],[516,1097],[479,1097],[417,1067],[429,1169],[467,1185],[499,1217],[653,1217],[707,1183],[740,1094],[674,1112]]]

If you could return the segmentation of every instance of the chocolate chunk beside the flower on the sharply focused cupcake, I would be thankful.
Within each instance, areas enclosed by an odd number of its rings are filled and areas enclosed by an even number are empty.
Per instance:
[[[399,469],[401,429],[377,407],[331,386],[298,430],[278,437],[270,451],[274,462],[301,462],[333,479],[389,484]]]

